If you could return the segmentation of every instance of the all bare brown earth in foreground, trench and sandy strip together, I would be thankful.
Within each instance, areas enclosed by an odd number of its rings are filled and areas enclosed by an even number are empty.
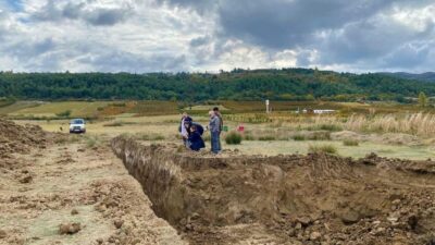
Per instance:
[[[74,138],[0,120],[0,245],[435,244],[432,160]]]

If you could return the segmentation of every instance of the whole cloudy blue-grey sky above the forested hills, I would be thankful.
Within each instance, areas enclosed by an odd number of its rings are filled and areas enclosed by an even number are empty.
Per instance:
[[[0,0],[0,71],[435,71],[435,0]]]

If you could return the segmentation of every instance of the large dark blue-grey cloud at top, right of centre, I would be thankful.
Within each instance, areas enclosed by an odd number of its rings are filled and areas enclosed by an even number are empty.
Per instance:
[[[400,0],[226,0],[220,7],[222,35],[273,49],[312,41],[322,30],[341,28],[371,16]]]

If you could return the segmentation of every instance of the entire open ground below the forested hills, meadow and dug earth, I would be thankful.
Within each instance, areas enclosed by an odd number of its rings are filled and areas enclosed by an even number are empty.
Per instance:
[[[0,205],[8,207],[0,211],[0,235],[7,234],[0,244],[129,245],[140,237],[137,244],[427,245],[435,238],[430,110],[381,113],[396,106],[331,103],[345,109],[318,115],[283,102],[282,111],[266,114],[260,103],[259,111],[244,109],[253,102],[219,105],[228,109],[228,132],[243,140],[228,145],[224,132],[217,157],[209,154],[208,132],[201,152],[182,146],[185,107],[176,102],[5,106],[11,118],[32,114],[14,122],[33,126],[0,133],[7,138],[0,137],[0,154],[15,152],[0,164]],[[207,125],[211,107],[192,107],[195,121]],[[89,117],[85,135],[67,134],[69,119],[55,115],[65,110]],[[74,222],[77,233],[59,234],[60,224]]]

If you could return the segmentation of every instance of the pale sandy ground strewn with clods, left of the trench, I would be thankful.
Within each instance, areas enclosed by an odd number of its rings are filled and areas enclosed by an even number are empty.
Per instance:
[[[5,123],[0,244],[185,244],[108,147]]]

